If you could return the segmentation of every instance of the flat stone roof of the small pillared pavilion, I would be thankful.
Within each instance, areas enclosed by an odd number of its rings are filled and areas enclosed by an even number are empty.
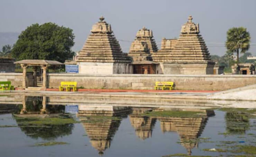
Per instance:
[[[40,59],[25,59],[14,62],[15,64],[25,64],[28,66],[40,66],[40,65],[63,65],[63,63],[56,60],[40,60]]]

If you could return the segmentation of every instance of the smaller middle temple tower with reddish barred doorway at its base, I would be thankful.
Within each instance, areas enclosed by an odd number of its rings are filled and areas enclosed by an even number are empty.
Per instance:
[[[152,61],[152,53],[157,52],[157,45],[152,30],[143,27],[131,43],[128,56],[132,57],[132,68],[135,74],[155,74],[157,62]]]

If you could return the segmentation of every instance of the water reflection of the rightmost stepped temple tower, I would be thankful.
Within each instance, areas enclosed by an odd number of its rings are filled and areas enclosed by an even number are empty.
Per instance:
[[[161,130],[165,132],[177,132],[180,136],[181,145],[183,145],[188,154],[194,147],[198,148],[198,138],[202,134],[207,123],[208,116],[214,115],[213,110],[207,110],[198,118],[182,117],[157,117],[160,121]]]

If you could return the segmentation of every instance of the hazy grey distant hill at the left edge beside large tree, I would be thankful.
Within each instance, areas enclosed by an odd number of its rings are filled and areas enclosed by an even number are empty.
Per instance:
[[[0,49],[2,49],[4,45],[13,45],[16,43],[19,34],[20,33],[17,32],[0,32]]]

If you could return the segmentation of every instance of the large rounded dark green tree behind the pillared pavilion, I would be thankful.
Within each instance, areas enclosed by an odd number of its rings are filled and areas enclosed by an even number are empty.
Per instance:
[[[22,31],[12,49],[16,60],[46,59],[64,62],[74,55],[72,29],[55,23],[32,24]]]

